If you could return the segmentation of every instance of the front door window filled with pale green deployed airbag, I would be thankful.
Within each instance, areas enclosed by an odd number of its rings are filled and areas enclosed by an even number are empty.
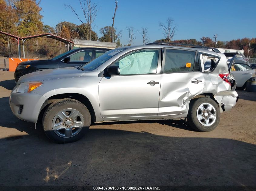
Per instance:
[[[120,68],[120,75],[156,74],[159,50],[141,50],[126,55],[114,65]]]

